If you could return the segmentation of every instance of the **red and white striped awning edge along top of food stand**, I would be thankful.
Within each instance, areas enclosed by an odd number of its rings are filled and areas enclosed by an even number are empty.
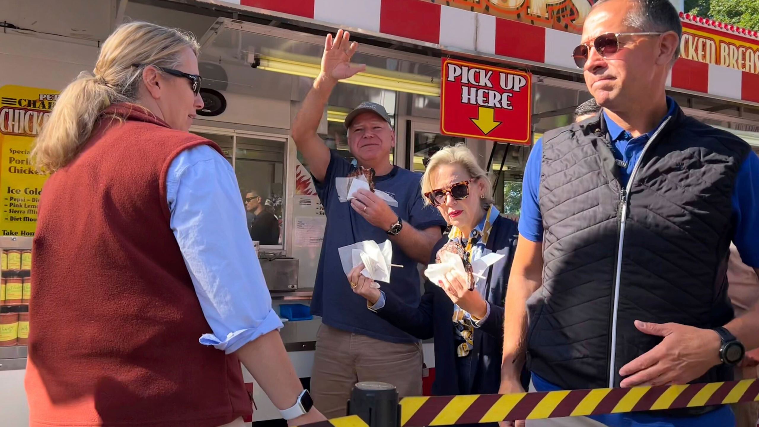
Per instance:
[[[517,59],[528,65],[545,65],[580,73],[572,49],[580,43],[575,33],[525,24],[420,0],[201,0],[237,8],[323,24],[347,27],[389,40],[410,41],[450,52],[481,53]],[[743,37],[759,45],[757,32],[681,15],[684,24]],[[720,27],[720,25],[722,27]],[[757,46],[759,47],[759,46]],[[705,93],[726,100],[759,103],[759,74],[706,62],[679,59],[668,87]]]

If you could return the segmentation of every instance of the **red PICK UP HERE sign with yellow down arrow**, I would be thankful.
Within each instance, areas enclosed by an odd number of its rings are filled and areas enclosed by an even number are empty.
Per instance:
[[[443,59],[440,131],[530,144],[531,77],[522,71]]]

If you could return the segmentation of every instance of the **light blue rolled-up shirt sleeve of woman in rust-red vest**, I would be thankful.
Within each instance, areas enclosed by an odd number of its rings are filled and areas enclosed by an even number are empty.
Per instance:
[[[168,168],[166,198],[174,236],[213,331],[200,343],[233,353],[281,328],[228,161],[207,145],[183,151]]]

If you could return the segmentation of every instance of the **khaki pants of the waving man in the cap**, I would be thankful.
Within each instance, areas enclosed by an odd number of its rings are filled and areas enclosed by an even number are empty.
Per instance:
[[[354,384],[392,384],[400,397],[422,394],[420,343],[395,344],[322,324],[313,356],[313,405],[328,419],[345,416]]]

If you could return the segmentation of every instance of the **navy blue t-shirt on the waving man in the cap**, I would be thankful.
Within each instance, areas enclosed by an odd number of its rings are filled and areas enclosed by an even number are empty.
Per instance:
[[[335,150],[330,150],[331,158],[324,182],[313,179],[317,188],[327,223],[324,242],[319,258],[317,281],[313,285],[311,313],[322,317],[322,323],[342,331],[366,335],[390,343],[415,343],[418,340],[406,334],[378,315],[367,309],[367,300],[353,293],[348,277],[342,270],[340,255],[342,246],[353,245],[364,240],[382,243],[388,240],[383,229],[371,225],[351,207],[350,201],[341,202],[337,197],[335,178],[348,176],[354,169],[348,160]],[[434,207],[424,206],[421,195],[421,174],[394,166],[387,175],[376,176],[374,186],[392,195],[398,207],[390,207],[404,223],[415,229],[431,226],[446,226],[440,213]],[[392,244],[392,267],[390,283],[379,282],[408,305],[419,305],[420,277],[417,261],[409,258],[398,245]]]

